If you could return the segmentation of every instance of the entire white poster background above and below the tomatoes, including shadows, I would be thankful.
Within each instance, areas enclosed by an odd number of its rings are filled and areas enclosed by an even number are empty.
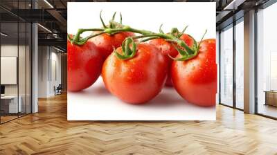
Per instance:
[[[114,12],[123,15],[123,24],[133,28],[168,33],[172,27],[182,30],[197,41],[204,31],[205,38],[215,38],[215,3],[68,3],[68,33],[78,28],[102,27],[99,13],[105,24]],[[87,33],[88,34],[88,33]],[[87,35],[84,34],[84,35]],[[173,88],[165,88],[147,104],[132,105],[111,95],[102,78],[89,89],[68,93],[68,120],[215,120],[215,107],[197,107],[187,103]]]

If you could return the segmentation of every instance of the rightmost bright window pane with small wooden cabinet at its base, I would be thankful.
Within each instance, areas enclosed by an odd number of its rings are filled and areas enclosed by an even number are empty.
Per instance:
[[[256,111],[277,118],[277,3],[257,12]]]

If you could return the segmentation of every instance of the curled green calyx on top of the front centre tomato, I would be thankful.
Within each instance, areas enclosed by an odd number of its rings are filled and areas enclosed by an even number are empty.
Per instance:
[[[130,45],[132,45],[132,49],[130,48]],[[129,60],[134,55],[136,55],[136,43],[134,42],[134,39],[132,37],[127,37],[123,44],[121,45],[122,48],[122,55],[120,55],[116,49],[114,49],[114,53],[116,54],[116,57],[118,57],[120,60]]]

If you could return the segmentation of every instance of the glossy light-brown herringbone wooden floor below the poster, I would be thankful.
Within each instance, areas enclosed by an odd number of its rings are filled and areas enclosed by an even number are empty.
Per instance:
[[[277,153],[276,120],[222,105],[216,121],[67,121],[66,109],[65,94],[40,99],[0,125],[0,154]]]

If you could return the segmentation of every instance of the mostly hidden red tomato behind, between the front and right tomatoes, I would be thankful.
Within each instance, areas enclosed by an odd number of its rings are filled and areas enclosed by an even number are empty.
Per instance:
[[[193,46],[193,38],[190,37],[189,35],[183,34],[183,35],[181,35],[180,39],[183,40],[188,46],[190,46],[190,47]],[[149,42],[149,44],[152,44],[152,45],[156,46],[157,48],[159,48],[159,50],[161,51],[161,53],[163,53],[163,55],[167,56],[169,54],[172,57],[176,57],[178,55],[178,51],[175,49],[175,47],[172,45],[172,43],[167,42],[166,39],[161,39],[161,38],[152,39]],[[172,59],[170,59],[170,57],[168,57],[168,61],[169,61],[169,70],[170,70]],[[168,78],[166,79],[166,86],[172,86],[170,71],[168,71]]]

